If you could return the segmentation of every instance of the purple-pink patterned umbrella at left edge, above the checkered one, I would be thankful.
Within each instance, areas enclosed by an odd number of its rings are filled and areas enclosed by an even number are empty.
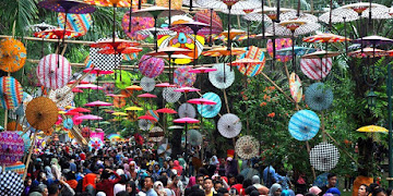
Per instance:
[[[0,163],[13,164],[21,160],[24,152],[23,138],[16,132],[0,133]],[[4,183],[4,182],[3,182]]]

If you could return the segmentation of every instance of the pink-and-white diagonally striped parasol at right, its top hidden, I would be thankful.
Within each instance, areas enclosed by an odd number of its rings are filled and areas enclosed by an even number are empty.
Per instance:
[[[300,69],[307,77],[315,81],[322,79],[332,69],[332,58],[300,59]]]

